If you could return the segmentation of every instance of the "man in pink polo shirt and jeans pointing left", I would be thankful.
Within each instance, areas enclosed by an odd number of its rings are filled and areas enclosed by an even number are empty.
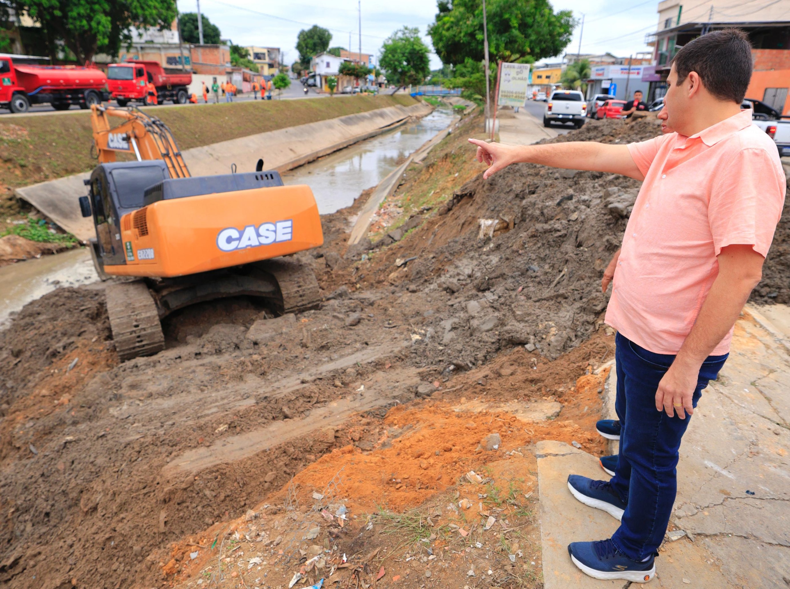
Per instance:
[[[740,108],[751,70],[745,33],[710,32],[672,61],[659,118],[674,133],[630,145],[469,140],[489,165],[485,178],[532,162],[643,181],[601,281],[604,292],[613,285],[606,321],[618,331],[615,476],[568,478],[574,497],[621,522],[611,538],[568,546],[574,564],[597,579],[655,576],[681,438],[727,359],[781,216],[786,180],[776,145]]]

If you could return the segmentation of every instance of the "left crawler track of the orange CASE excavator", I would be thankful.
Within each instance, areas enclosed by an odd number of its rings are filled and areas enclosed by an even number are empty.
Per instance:
[[[164,350],[164,334],[148,287],[141,280],[107,284],[107,315],[121,360]]]

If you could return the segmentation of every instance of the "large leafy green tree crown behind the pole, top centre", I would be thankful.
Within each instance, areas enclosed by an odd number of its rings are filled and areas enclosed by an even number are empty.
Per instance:
[[[559,54],[576,21],[570,10],[555,13],[548,0],[487,0],[491,61],[531,63]],[[428,34],[443,63],[483,61],[483,5],[479,0],[439,0]]]

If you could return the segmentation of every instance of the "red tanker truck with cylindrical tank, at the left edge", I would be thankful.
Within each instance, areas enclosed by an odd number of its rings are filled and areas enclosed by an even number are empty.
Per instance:
[[[72,104],[89,108],[109,95],[107,77],[96,67],[36,66],[28,55],[0,54],[0,107],[27,112],[31,104],[50,103],[56,111]],[[45,58],[41,58],[45,59]]]

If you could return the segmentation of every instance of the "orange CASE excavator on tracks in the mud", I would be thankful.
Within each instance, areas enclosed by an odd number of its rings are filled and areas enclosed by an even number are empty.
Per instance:
[[[319,302],[312,270],[289,257],[324,241],[309,186],[284,186],[262,159],[254,172],[192,177],[160,119],[134,107],[91,111],[99,165],[80,207],[96,226],[100,277],[129,277],[106,288],[122,360],[164,349],[160,321],[195,302],[249,295],[280,313]]]

